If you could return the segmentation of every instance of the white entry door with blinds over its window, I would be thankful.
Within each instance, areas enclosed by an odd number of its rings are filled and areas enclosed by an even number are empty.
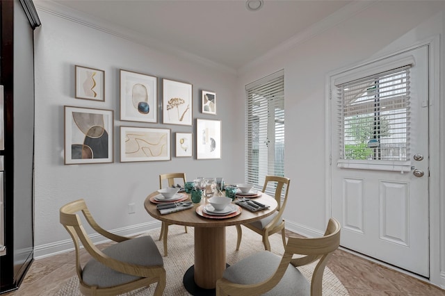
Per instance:
[[[341,246],[428,277],[428,46],[336,74],[331,94]]]

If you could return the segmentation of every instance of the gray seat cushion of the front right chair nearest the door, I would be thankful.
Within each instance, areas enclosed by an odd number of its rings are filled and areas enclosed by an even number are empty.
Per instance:
[[[282,257],[262,251],[227,268],[223,278],[232,283],[252,284],[268,279],[275,273]],[[289,264],[280,283],[264,295],[310,295],[311,286],[304,275]]]

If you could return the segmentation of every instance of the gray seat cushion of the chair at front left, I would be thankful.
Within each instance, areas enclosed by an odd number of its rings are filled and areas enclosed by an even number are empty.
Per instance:
[[[102,250],[104,254],[126,263],[144,266],[163,266],[163,259],[151,236],[141,236],[118,242]],[[94,258],[88,261],[82,272],[83,282],[99,288],[129,283],[140,277],[118,272],[99,263]]]

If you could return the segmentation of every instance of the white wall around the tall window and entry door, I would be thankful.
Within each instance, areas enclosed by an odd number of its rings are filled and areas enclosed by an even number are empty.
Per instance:
[[[237,81],[238,97],[243,97],[244,85],[278,69],[284,69],[285,174],[291,179],[291,193],[284,213],[286,228],[316,236],[323,232],[330,216],[330,194],[327,188],[329,165],[325,150],[329,145],[325,121],[327,75],[363,63],[371,57],[389,54],[423,39],[443,34],[444,11],[444,1],[378,1],[312,38],[302,38],[304,42],[298,42],[291,48],[283,46],[281,52],[275,49],[277,54],[274,56],[266,56],[261,62],[252,63],[242,69]],[[310,29],[305,32],[305,36],[311,35]],[[444,56],[443,47],[440,56]],[[442,67],[441,74],[443,73]],[[442,107],[442,117],[443,115]],[[436,115],[437,125],[439,118]],[[443,137],[443,122],[440,127],[440,135]],[[432,129],[439,131],[439,126]],[[436,147],[431,149],[438,149],[439,140],[434,145]],[[439,154],[435,156],[442,157]],[[436,165],[438,163],[435,160],[432,162]],[[432,186],[439,187],[439,180],[444,179],[443,158],[440,163],[442,178],[436,174],[433,177],[436,183]],[[430,192],[433,194],[430,198],[437,206],[445,201],[443,187],[440,190]],[[435,215],[432,223],[438,225],[439,217],[444,217],[444,214],[442,206],[442,213]],[[445,248],[440,245],[440,239],[444,241],[445,233],[443,229],[439,233],[435,228],[433,234],[437,236],[430,241],[431,256],[433,262],[438,262],[437,258],[444,258],[445,255]],[[439,238],[441,234],[442,238]],[[441,270],[445,270],[444,261],[441,261],[440,267],[438,263],[433,265],[431,280],[437,285],[445,286],[444,273],[441,277]]]

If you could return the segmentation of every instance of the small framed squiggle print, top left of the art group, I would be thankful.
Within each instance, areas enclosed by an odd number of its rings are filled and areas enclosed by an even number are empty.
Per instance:
[[[76,99],[105,101],[105,71],[75,65],[74,72]]]

